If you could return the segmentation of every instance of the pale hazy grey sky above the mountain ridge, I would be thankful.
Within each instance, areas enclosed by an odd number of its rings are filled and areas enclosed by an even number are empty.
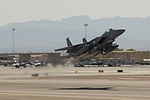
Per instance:
[[[0,26],[30,20],[150,16],[150,0],[0,0]]]

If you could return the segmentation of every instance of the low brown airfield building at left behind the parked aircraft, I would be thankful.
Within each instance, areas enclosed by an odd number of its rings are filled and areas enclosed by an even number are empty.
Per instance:
[[[2,53],[0,54],[0,64],[12,62],[42,62],[60,64],[62,62],[60,53]]]

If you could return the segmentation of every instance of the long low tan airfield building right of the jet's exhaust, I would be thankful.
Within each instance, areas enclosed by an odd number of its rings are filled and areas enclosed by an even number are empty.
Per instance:
[[[120,64],[150,64],[150,51],[113,51],[101,59]]]

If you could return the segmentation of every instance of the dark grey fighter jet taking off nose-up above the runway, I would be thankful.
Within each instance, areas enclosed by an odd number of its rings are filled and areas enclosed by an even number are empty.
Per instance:
[[[77,45],[72,45],[70,39],[67,38],[67,47],[56,49],[55,51],[67,50],[66,53],[69,53],[69,56],[74,58],[89,58],[100,53],[107,54],[119,46],[113,44],[113,42],[124,32],[124,29],[109,29],[109,31],[105,31],[102,36],[96,37],[89,42],[86,38],[83,38],[83,43]]]

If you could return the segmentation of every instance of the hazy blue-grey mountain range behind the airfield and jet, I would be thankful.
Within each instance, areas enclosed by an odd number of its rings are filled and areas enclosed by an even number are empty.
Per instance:
[[[12,52],[12,28],[15,28],[15,52],[54,52],[54,49],[66,46],[67,37],[74,44],[81,43],[85,37],[85,23],[88,23],[88,40],[102,35],[109,28],[124,28],[126,32],[116,40],[120,48],[150,49],[150,17],[94,20],[88,16],[74,16],[59,21],[29,21],[2,26],[0,52]]]

